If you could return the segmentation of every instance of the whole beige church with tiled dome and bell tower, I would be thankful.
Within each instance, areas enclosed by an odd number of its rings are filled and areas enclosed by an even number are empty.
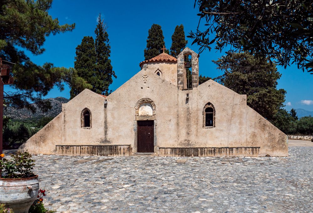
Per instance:
[[[177,58],[163,50],[139,66],[108,96],[85,89],[62,104],[62,112],[19,150],[68,156],[288,156],[287,136],[247,106],[246,95],[213,80],[199,85],[199,57],[190,48]]]

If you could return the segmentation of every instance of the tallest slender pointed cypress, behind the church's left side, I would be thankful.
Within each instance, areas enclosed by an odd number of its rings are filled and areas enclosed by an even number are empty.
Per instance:
[[[109,94],[109,85],[112,84],[113,79],[116,78],[115,72],[112,70],[111,60],[109,59],[111,54],[111,46],[109,43],[108,33],[106,27],[101,19],[101,14],[98,17],[98,25],[95,30],[96,41],[96,76],[94,85],[97,93],[102,95]]]

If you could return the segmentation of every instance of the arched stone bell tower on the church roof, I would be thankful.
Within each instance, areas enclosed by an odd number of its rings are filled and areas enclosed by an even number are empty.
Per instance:
[[[191,61],[185,61],[186,56],[191,56]],[[188,89],[187,88],[187,77],[186,69],[191,66],[191,85],[192,88],[198,87],[199,85],[199,60],[198,54],[186,47],[177,56],[177,87],[178,90]],[[190,88],[189,88],[190,89]]]

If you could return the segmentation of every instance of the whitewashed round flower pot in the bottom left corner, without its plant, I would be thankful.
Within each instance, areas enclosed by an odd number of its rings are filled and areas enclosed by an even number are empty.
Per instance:
[[[38,175],[28,178],[0,178],[0,203],[14,213],[28,213],[39,191]]]

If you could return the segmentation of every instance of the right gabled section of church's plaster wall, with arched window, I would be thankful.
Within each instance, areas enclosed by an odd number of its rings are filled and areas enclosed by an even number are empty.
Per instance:
[[[215,127],[206,129],[203,108],[208,102],[216,111]],[[261,156],[288,156],[287,136],[246,102],[246,95],[213,80],[193,90],[178,91],[179,140],[173,146],[260,146]]]

